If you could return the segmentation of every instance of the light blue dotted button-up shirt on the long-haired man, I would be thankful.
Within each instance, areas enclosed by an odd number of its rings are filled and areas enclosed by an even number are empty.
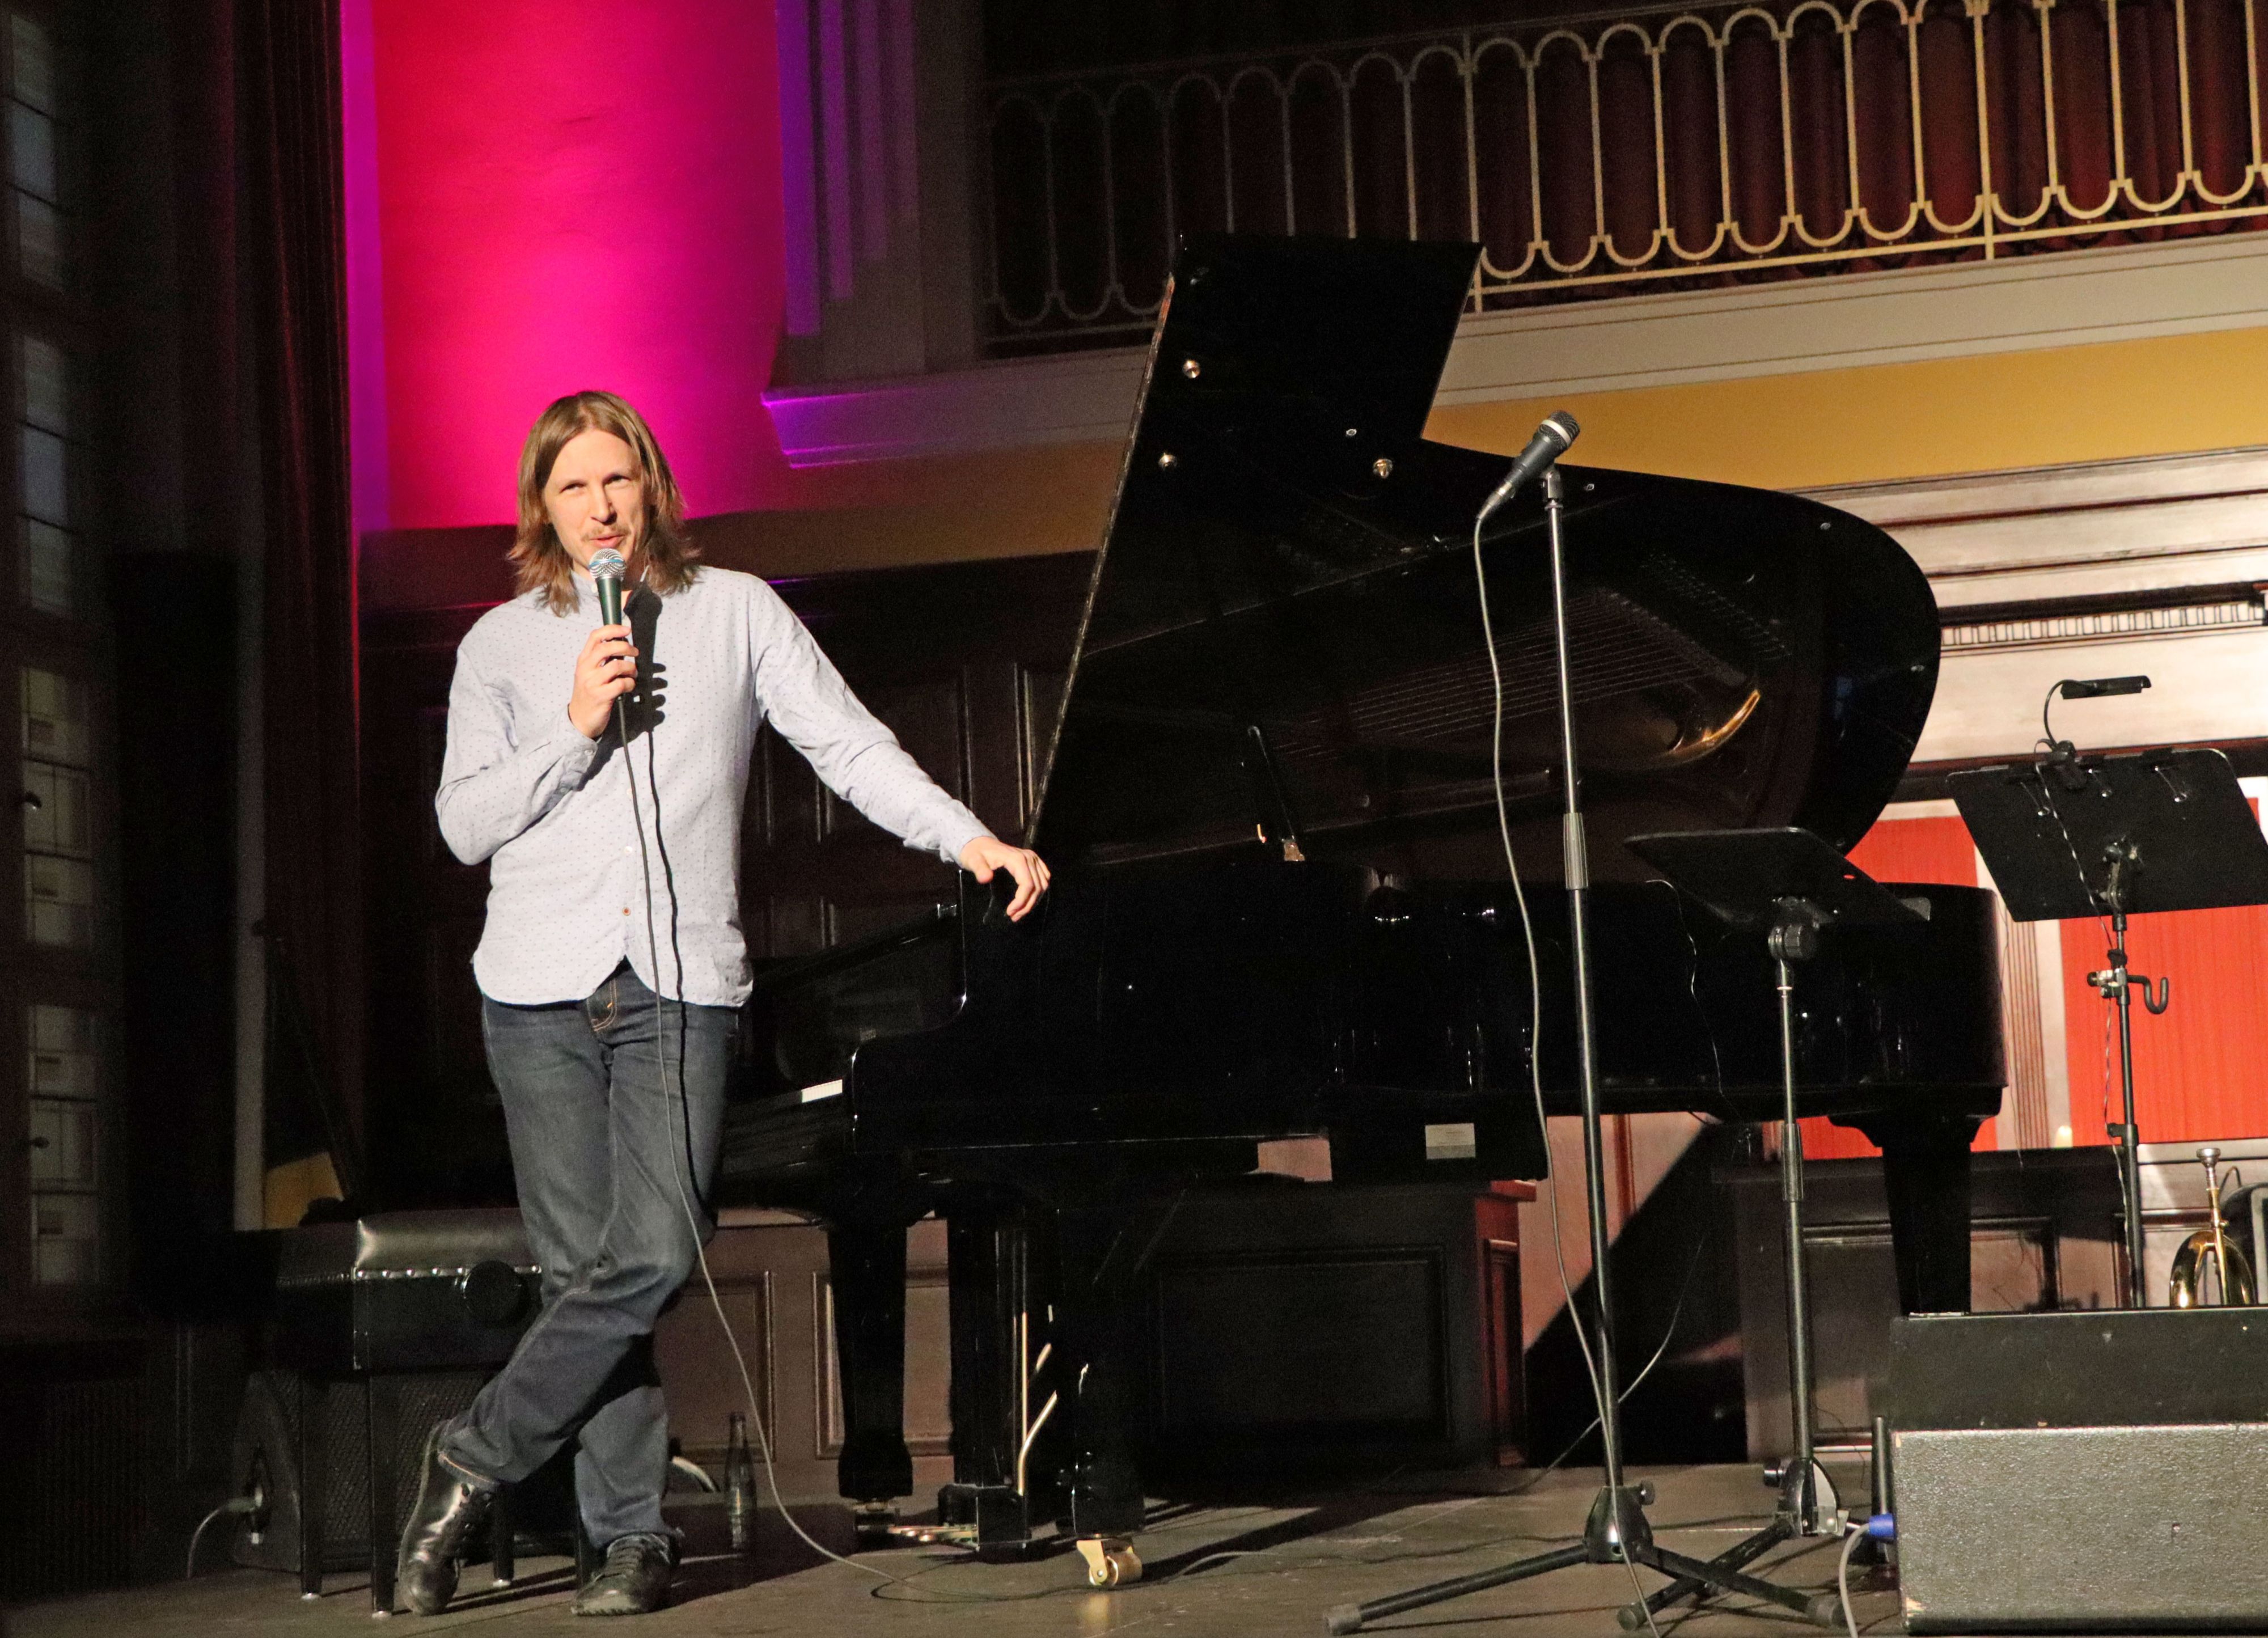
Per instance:
[[[633,592],[631,624],[653,633],[640,644],[640,676],[658,683],[642,685],[631,708],[635,769],[626,769],[612,726],[585,740],[567,721],[576,656],[599,624],[590,579],[576,574],[576,590],[574,615],[553,615],[540,594],[499,603],[456,649],[433,812],[451,853],[488,860],[488,926],[472,971],[492,1000],[581,1000],[624,957],[655,994],[708,1007],[748,998],[739,819],[767,719],[828,790],[907,846],[950,864],[989,835],[857,703],[778,592],[733,569],[703,567],[669,597]],[[660,966],[646,939],[633,776],[653,851]]]

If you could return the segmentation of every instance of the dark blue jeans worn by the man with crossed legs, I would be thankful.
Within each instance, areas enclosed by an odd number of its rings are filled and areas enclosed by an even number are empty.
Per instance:
[[[653,1320],[714,1227],[705,1198],[733,1030],[730,1007],[655,1012],[628,962],[585,1000],[481,1003],[542,1311],[440,1454],[508,1484],[581,1438],[576,1502],[601,1547],[662,1534],[669,1420]]]

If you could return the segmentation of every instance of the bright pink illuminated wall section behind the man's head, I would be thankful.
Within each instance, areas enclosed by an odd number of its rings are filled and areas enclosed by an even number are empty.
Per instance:
[[[764,506],[787,472],[762,404],[785,284],[773,9],[345,11],[358,529],[508,522],[528,422],[585,386],[653,420],[694,513]]]

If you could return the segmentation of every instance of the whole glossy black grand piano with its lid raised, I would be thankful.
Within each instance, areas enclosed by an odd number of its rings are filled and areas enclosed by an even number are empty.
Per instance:
[[[943,912],[760,976],[769,1096],[719,1198],[830,1227],[841,1491],[912,1488],[905,1227],[948,1221],[955,1484],[982,1552],[1055,1522],[1098,1584],[1141,1525],[1127,1325],[1177,1191],[1329,1139],[1336,1180],[1538,1177],[1529,1089],[1574,1112],[1542,513],[1483,542],[1506,463],[1420,433],[1476,252],[1184,247],[1055,726],[1009,923]],[[1848,848],[1905,771],[1937,608],[1905,551],[1785,495],[1567,467],[1569,597],[1608,1112],[1778,1109],[1758,935],[1619,846],[1805,826]],[[1969,1141],[2000,1105],[1991,896],[1903,887],[1914,935],[1828,935],[1799,978],[1803,1107],[1885,1150],[1901,1300],[1969,1307]],[[1100,1547],[1098,1547],[1100,1543]]]

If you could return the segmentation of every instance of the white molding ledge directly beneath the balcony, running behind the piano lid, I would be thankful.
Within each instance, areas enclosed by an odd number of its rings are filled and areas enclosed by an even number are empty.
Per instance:
[[[2268,234],[1626,295],[1458,327],[1436,404],[1733,381],[2268,324]],[[1120,442],[1143,349],[764,395],[798,467]]]

